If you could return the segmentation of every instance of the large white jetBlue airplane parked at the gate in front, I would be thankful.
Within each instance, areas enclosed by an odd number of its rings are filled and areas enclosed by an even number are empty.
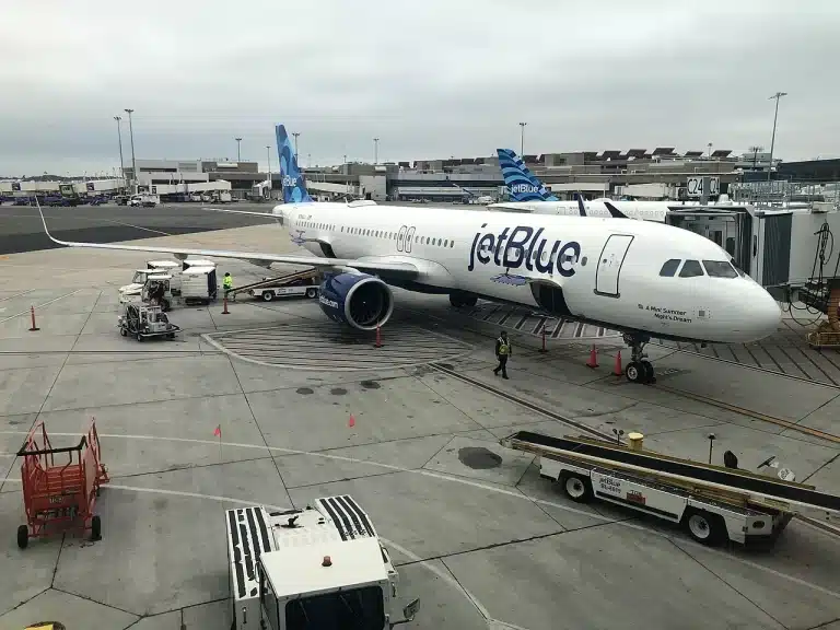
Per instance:
[[[308,256],[66,242],[49,233],[42,212],[44,230],[69,247],[312,266],[323,276],[324,314],[360,330],[388,322],[393,287],[448,294],[455,308],[472,307],[479,298],[523,305],[622,332],[632,353],[625,372],[634,383],[654,382],[644,353],[651,338],[749,342],[781,322],[770,294],[693,232],[595,217],[316,202],[285,128],[276,132],[284,202],[271,214],[234,212],[273,218]]]

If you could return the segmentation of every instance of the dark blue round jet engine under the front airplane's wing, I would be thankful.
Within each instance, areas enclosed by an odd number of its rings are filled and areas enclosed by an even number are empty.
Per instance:
[[[394,312],[394,294],[378,278],[368,273],[326,275],[318,304],[324,314],[359,330],[375,330]]]

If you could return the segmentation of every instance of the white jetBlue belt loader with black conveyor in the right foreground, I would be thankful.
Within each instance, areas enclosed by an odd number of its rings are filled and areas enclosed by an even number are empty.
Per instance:
[[[772,542],[797,510],[840,513],[840,497],[813,486],[641,447],[529,431],[500,444],[536,454],[540,476],[572,501],[623,505],[679,524],[704,545]]]

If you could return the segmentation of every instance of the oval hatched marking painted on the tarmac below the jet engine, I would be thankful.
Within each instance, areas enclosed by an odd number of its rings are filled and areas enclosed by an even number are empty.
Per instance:
[[[374,332],[331,322],[225,330],[201,337],[236,359],[298,370],[394,370],[454,360],[472,350],[469,343],[417,326],[386,326],[381,334],[380,348],[374,347]]]

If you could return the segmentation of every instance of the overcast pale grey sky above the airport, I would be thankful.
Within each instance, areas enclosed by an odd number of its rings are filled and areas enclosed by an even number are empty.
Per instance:
[[[0,175],[675,147],[840,156],[837,0],[3,0]],[[268,151],[266,147],[269,147]]]

